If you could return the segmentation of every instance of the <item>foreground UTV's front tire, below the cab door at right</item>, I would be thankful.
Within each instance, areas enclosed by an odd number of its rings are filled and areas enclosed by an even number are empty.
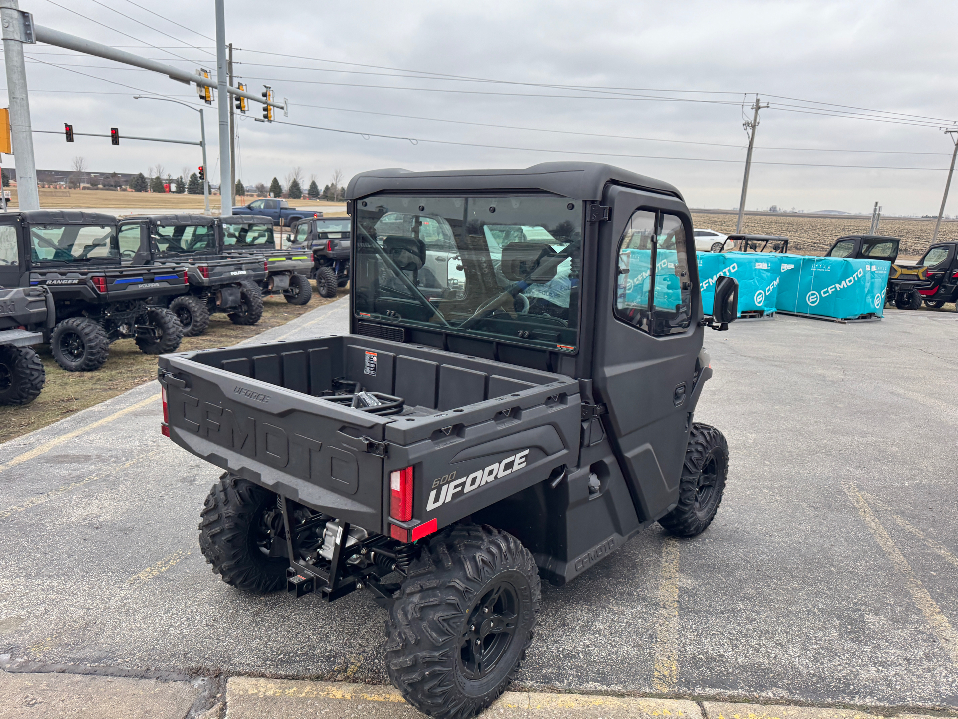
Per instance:
[[[692,425],[685,451],[678,506],[659,520],[676,537],[695,537],[705,531],[719,511],[728,474],[728,444],[711,425]]]

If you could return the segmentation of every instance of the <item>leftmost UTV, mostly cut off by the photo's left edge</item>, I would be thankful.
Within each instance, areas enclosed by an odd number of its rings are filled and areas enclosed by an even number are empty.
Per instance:
[[[0,282],[15,281],[19,271],[16,230],[0,224]],[[45,287],[0,289],[0,405],[27,405],[43,390],[47,374],[32,345],[46,342],[53,330],[54,297]]]

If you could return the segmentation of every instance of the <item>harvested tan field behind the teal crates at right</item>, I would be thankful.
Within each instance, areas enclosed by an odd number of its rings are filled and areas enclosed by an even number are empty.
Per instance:
[[[692,218],[696,227],[724,233],[735,232],[735,214],[693,212]],[[828,251],[836,238],[867,232],[869,224],[868,218],[843,218],[840,215],[810,218],[794,215],[749,215],[746,212],[742,232],[753,235],[784,235],[790,241],[789,252],[820,255]],[[943,220],[938,230],[938,239],[954,241],[956,227],[958,224],[954,220]],[[899,257],[917,260],[931,243],[934,229],[935,220],[882,218],[878,225],[878,234],[901,238]]]

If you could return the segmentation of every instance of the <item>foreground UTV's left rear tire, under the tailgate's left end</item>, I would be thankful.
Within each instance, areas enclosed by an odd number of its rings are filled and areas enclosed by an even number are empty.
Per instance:
[[[286,586],[285,551],[269,556],[273,542],[285,543],[276,495],[227,472],[213,485],[199,516],[199,550],[226,584],[256,594]]]

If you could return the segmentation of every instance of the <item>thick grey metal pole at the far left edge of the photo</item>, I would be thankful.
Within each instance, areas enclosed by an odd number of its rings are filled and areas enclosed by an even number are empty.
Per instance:
[[[7,65],[7,92],[10,96],[13,157],[16,159],[16,195],[21,210],[38,210],[40,192],[36,187],[34,127],[30,120],[27,65],[23,59],[23,43],[36,42],[34,18],[29,12],[20,12],[17,0],[0,0],[0,19]]]

